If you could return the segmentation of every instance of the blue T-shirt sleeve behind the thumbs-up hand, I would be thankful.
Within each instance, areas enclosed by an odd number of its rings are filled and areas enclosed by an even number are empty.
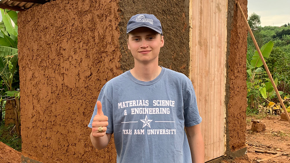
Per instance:
[[[101,101],[102,103],[102,111],[104,112],[105,116],[108,116],[108,126],[107,126],[107,131],[106,133],[113,133],[113,105],[112,102],[108,99],[106,96],[106,85],[102,88],[99,97],[97,100]],[[94,108],[94,112],[92,115],[92,118],[90,120],[90,123],[88,124],[88,127],[92,128],[92,123],[95,115],[97,114],[97,103]]]

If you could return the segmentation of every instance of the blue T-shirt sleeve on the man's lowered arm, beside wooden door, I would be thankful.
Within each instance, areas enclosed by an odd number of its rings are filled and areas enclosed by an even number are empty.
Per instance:
[[[200,124],[202,118],[200,117],[195,91],[191,81],[187,82],[188,86],[183,95],[183,109],[184,109],[184,126],[191,127]]]

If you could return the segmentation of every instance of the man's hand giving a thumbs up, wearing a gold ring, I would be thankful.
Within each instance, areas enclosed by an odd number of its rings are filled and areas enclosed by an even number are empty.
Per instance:
[[[108,117],[102,111],[101,101],[97,101],[97,114],[92,123],[92,135],[94,137],[102,137],[106,134],[108,126]]]

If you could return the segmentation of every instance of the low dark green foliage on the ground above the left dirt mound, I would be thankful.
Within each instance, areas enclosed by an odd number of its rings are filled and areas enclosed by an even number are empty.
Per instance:
[[[17,136],[15,129],[13,129],[14,126],[14,124],[5,126],[4,121],[0,122],[0,142],[3,142],[11,148],[21,152],[21,136]],[[12,134],[10,134],[10,132]]]

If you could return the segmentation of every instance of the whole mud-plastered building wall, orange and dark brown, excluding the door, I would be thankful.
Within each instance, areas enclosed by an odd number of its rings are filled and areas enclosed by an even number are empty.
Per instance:
[[[246,11],[247,1],[240,1]],[[227,151],[244,147],[247,31],[229,0]],[[189,75],[189,0],[56,0],[19,13],[22,154],[40,162],[115,162],[110,145],[96,151],[87,127],[111,78],[133,68],[126,24],[155,14],[165,45],[159,64]]]

